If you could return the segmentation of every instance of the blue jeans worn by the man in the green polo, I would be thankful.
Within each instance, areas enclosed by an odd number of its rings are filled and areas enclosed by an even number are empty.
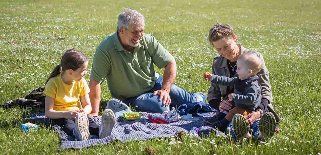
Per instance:
[[[163,113],[164,111],[169,111],[169,106],[165,106],[163,101],[159,101],[159,95],[153,96],[154,91],[161,89],[162,83],[163,78],[160,76],[155,81],[155,86],[152,88],[152,90],[139,96],[128,98],[124,101],[124,103],[134,107],[135,110],[138,111],[148,111],[153,113]],[[170,106],[174,107],[192,102],[206,101],[206,97],[203,94],[189,93],[174,84],[172,84],[170,88],[169,97],[172,100]]]

